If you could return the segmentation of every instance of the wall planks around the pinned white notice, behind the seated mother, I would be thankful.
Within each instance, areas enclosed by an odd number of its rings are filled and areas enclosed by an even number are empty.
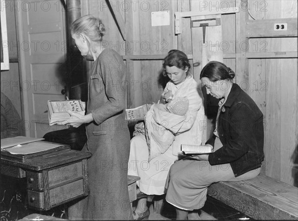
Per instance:
[[[177,37],[174,34],[174,12],[177,10],[177,2],[141,0],[136,1],[134,6],[131,5],[130,10],[125,12],[127,45],[130,45],[127,56],[138,59],[139,55],[142,55],[144,60],[127,60],[130,76],[128,107],[131,108],[158,101],[168,80],[162,76],[162,58],[171,49],[177,49]],[[151,26],[151,12],[163,10],[170,12],[170,25]],[[150,55],[161,55],[161,59],[149,60],[152,57]]]

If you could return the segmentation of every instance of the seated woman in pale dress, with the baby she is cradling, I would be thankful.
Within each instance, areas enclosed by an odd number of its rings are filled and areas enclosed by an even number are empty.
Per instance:
[[[153,104],[144,123],[136,125],[131,140],[128,174],[139,176],[141,195],[163,195],[171,165],[178,159],[180,145],[201,144],[204,119],[203,95],[190,73],[185,53],[171,50],[164,58],[166,84],[158,104]],[[138,202],[135,220],[149,217],[147,197]]]

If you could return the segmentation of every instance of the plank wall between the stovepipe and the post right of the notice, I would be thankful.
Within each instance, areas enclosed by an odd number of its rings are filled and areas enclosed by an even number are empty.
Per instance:
[[[177,2],[172,0],[110,0],[111,8],[119,11],[126,22],[126,41],[122,38],[112,13],[105,0],[81,0],[81,12],[92,14],[103,20],[107,28],[106,41],[110,49],[120,55],[145,56],[144,60],[126,59],[129,76],[128,108],[146,103],[157,102],[166,78],[161,75],[162,60],[148,58],[147,55],[166,55],[177,48],[177,36],[174,35],[174,11]],[[152,11],[170,11],[170,25],[151,26]],[[161,56],[161,57],[164,57]],[[87,72],[92,62],[87,64]]]

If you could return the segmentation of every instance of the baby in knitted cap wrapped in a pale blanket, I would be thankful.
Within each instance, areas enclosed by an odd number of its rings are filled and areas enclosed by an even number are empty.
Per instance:
[[[169,99],[166,104],[153,104],[145,117],[146,140],[149,148],[149,159],[164,153],[173,143],[175,135],[165,126],[175,125],[186,118],[189,101],[184,97]],[[156,116],[163,119],[156,120]]]

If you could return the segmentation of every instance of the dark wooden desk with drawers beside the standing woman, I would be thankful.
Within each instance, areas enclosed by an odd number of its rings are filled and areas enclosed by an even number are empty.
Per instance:
[[[1,155],[1,174],[26,177],[28,205],[35,210],[50,210],[88,195],[86,160],[91,153],[69,146],[61,150],[29,157],[25,162]]]

